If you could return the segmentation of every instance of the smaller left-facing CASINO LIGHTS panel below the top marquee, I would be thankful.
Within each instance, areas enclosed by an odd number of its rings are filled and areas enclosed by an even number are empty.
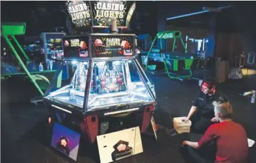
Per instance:
[[[89,36],[63,38],[64,57],[87,57]]]

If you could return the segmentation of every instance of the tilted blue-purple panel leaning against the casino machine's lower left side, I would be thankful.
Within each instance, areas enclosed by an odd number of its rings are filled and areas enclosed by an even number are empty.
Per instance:
[[[54,123],[51,147],[56,148],[74,161],[77,159],[80,134],[58,123]]]

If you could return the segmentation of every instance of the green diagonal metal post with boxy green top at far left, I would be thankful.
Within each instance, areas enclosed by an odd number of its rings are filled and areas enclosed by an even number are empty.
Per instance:
[[[21,45],[19,44],[19,42],[17,41],[17,39],[14,36],[14,35],[24,35],[25,34],[25,29],[26,29],[25,22],[21,22],[21,23],[12,23],[12,22],[4,23],[3,22],[3,23],[1,23],[1,36],[4,36],[5,41],[7,41],[7,44],[11,48],[12,52],[14,52],[15,57],[18,59],[18,62],[20,63],[20,65],[24,69],[25,74],[28,75],[31,82],[35,85],[35,88],[37,88],[40,95],[43,96],[44,93],[43,93],[42,89],[39,87],[37,82],[35,82],[35,80],[33,79],[33,76],[31,76],[30,72],[28,71],[28,69],[26,68],[26,66],[22,62],[20,56],[18,55],[18,52],[15,50],[14,46],[12,45],[11,41],[8,38],[8,35],[9,35],[9,36],[12,37],[12,39],[14,39],[14,42],[17,44],[18,48],[21,50],[22,54],[25,56],[27,61],[30,61],[27,54],[25,54],[25,51],[22,49]]]

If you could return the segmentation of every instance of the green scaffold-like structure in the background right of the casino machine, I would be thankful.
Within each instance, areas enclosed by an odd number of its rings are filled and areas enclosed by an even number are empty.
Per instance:
[[[160,54],[161,61],[163,61],[164,64],[164,71],[167,73],[168,77],[171,79],[182,79],[182,78],[191,78],[192,77],[192,71],[191,71],[191,66],[194,63],[195,60],[197,60],[197,66],[199,64],[199,59],[196,58],[190,58],[190,57],[184,57],[184,56],[172,56],[164,54],[164,51],[162,50],[163,48],[163,39],[173,39],[173,47],[171,49],[171,52],[174,52],[175,45],[177,43],[177,40],[180,39],[182,42],[182,46],[184,48],[184,52],[187,53],[187,48],[183,42],[182,39],[182,32],[180,31],[163,31],[163,32],[158,32],[157,35],[154,38],[154,41],[150,47],[150,50],[148,51],[147,54],[147,62],[145,65],[145,69],[147,71],[151,71],[154,68],[151,68],[150,65],[148,65],[149,58],[154,58],[154,56],[150,56],[151,52],[153,51],[153,45],[157,39],[160,39],[160,50],[158,53]],[[172,62],[171,68],[170,68],[170,62]],[[183,63],[182,70],[183,71],[188,71],[189,74],[187,75],[174,75],[174,73],[170,72],[170,69],[174,72],[180,71],[181,63]]]

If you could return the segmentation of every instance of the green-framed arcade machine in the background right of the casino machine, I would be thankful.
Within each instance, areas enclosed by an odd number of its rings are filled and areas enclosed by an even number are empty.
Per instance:
[[[153,49],[156,39],[160,39],[161,49]],[[174,39],[171,52],[162,49],[162,39]],[[177,39],[182,42],[184,52],[175,52]],[[143,61],[142,61],[143,62]],[[180,31],[158,32],[147,54],[145,63],[146,71],[151,74],[166,73],[170,79],[196,79],[192,78],[192,69],[198,67],[199,58],[196,54],[187,52],[187,48],[182,39]]]

